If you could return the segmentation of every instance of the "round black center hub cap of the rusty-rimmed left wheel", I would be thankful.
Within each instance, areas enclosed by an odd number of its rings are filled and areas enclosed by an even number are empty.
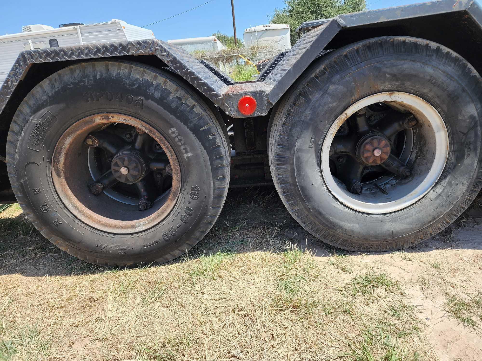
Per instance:
[[[144,160],[139,155],[129,151],[120,152],[116,155],[110,168],[118,181],[127,184],[140,181],[146,174]]]

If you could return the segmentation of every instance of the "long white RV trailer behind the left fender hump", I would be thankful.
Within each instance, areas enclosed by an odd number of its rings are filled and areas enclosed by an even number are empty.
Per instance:
[[[47,25],[23,26],[21,33],[0,36],[0,84],[18,54],[24,50],[153,38],[151,30],[117,19],[106,23],[59,28]]]

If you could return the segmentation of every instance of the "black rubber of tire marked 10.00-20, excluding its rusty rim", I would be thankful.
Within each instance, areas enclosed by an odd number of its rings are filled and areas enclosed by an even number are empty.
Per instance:
[[[91,91],[98,96],[86,101],[83,94]],[[107,92],[121,95],[116,101]],[[41,120],[47,112],[56,120]],[[174,208],[142,232],[95,229],[75,217],[55,191],[50,164],[57,141],[80,118],[99,113],[141,119],[165,137],[179,162]],[[47,77],[20,104],[8,135],[10,181],[28,219],[70,255],[102,265],[167,262],[198,243],[224,205],[230,173],[224,128],[196,90],[171,72],[119,61],[75,64]]]

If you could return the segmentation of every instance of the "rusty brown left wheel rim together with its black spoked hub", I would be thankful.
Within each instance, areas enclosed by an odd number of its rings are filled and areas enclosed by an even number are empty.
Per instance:
[[[94,152],[99,155],[93,163]],[[104,168],[99,179],[93,177],[93,164]],[[51,169],[63,205],[104,232],[136,233],[156,226],[171,213],[181,190],[180,165],[167,140],[146,122],[116,113],[87,116],[68,128],[55,146]],[[159,176],[165,191],[158,186]],[[107,192],[115,187],[119,191]]]

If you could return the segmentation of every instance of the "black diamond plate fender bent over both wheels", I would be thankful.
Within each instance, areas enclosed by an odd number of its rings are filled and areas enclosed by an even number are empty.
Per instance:
[[[230,84],[231,80],[229,77],[223,75],[219,69],[209,64],[209,66],[201,64],[200,61],[184,49],[157,39],[24,51],[20,53],[15,64],[13,64],[12,70],[0,87],[0,123],[2,121],[2,111],[5,109],[9,98],[14,94],[15,88],[25,77],[32,64],[122,55],[158,56],[169,66],[170,70],[186,79],[210,101],[234,118],[246,117],[239,112],[237,108],[238,101],[243,95],[252,95],[258,107],[254,115],[250,117],[263,116],[268,113],[269,109],[281,98],[286,90],[295,83],[309,64],[319,56],[320,52],[335,39],[335,36],[348,30],[356,33],[359,29],[366,26],[389,25],[394,24],[394,22],[403,22],[403,25],[410,26],[413,24],[412,21],[414,19],[418,19],[419,22],[417,24],[421,24],[420,21],[423,22],[426,16],[432,16],[433,19],[433,16],[440,16],[440,14],[445,13],[459,13],[461,18],[465,19],[462,22],[465,24],[464,26],[469,26],[467,25],[469,24],[468,20],[472,19],[472,23],[475,26],[467,28],[466,33],[468,38],[469,35],[471,36],[469,39],[474,39],[477,43],[480,42],[482,11],[478,3],[473,0],[440,0],[339,15],[305,34],[279,60],[276,66],[269,69],[268,74],[263,73],[263,77],[266,75],[266,78],[261,82],[255,80]],[[430,26],[428,29],[425,28],[424,31],[428,30],[430,30]],[[439,31],[437,30],[432,35],[436,36],[438,33]],[[377,36],[376,32],[370,34],[372,37]],[[465,33],[462,33],[462,35],[465,35]],[[450,32],[448,32],[447,36],[450,36]],[[455,37],[452,40],[452,47],[456,48],[459,43],[466,47],[463,41],[459,41],[459,38]],[[331,45],[333,45],[333,42]],[[332,49],[335,48],[336,44]],[[461,48],[461,50],[464,49]],[[474,53],[476,56],[468,60],[471,60],[474,66],[480,65],[482,69],[482,61],[480,61],[478,53]]]

